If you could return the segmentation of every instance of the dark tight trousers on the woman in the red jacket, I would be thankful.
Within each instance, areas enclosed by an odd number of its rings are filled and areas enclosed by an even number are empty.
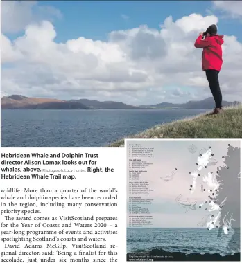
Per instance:
[[[210,87],[211,93],[213,94],[213,97],[215,100],[215,107],[221,109],[222,108],[222,93],[221,93],[221,89],[219,86],[218,74],[219,74],[219,71],[216,71],[214,69],[207,69],[206,71],[207,81],[209,82],[209,87]]]

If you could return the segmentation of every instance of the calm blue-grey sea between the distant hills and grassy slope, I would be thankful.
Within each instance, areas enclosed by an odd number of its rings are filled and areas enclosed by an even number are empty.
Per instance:
[[[3,109],[1,147],[105,147],[206,109]]]

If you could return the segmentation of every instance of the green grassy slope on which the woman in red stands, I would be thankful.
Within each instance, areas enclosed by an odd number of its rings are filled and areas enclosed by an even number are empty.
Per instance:
[[[242,138],[242,105],[226,107],[219,115],[200,114],[157,125],[126,138]],[[123,143],[124,138],[108,147],[121,147]]]

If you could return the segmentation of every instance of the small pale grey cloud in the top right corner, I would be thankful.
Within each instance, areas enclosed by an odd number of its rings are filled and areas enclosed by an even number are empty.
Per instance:
[[[221,10],[232,18],[242,18],[242,1],[212,1],[214,8]]]

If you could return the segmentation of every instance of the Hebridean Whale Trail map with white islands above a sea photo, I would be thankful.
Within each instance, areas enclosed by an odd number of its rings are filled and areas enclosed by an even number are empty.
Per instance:
[[[240,141],[126,145],[128,261],[240,259]]]

